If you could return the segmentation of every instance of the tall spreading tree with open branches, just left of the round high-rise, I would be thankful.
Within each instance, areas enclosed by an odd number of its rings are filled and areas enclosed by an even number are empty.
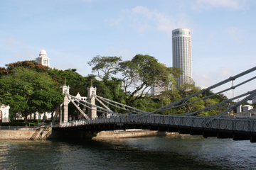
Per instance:
[[[175,84],[174,76],[181,73],[178,69],[164,66],[150,55],[135,55],[131,61],[120,62],[117,70],[123,76],[127,105],[142,98],[150,86],[167,89],[170,84]]]

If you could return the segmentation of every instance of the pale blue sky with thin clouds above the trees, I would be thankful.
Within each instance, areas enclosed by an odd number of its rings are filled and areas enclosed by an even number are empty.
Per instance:
[[[193,81],[208,87],[256,66],[255,8],[255,0],[0,0],[0,67],[41,50],[50,67],[84,77],[97,55],[151,55],[172,67],[171,31],[189,28]]]

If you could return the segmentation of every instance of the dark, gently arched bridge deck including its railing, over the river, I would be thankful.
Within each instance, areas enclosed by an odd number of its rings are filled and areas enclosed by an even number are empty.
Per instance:
[[[141,128],[256,142],[256,119],[252,118],[122,115],[112,118],[100,117],[92,120],[75,120],[73,122],[60,123],[58,129],[74,130],[74,128],[75,130],[90,131]]]

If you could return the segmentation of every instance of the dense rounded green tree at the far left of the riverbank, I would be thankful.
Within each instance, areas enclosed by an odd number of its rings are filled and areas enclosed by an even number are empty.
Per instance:
[[[28,115],[50,111],[54,103],[63,100],[58,84],[48,74],[25,68],[12,69],[0,79],[1,96],[4,105],[9,105],[25,118]]]

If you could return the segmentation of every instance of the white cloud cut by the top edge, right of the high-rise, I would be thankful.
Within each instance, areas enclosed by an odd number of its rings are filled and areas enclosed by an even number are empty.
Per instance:
[[[230,8],[233,10],[244,9],[247,6],[247,0],[197,0],[193,8]]]

